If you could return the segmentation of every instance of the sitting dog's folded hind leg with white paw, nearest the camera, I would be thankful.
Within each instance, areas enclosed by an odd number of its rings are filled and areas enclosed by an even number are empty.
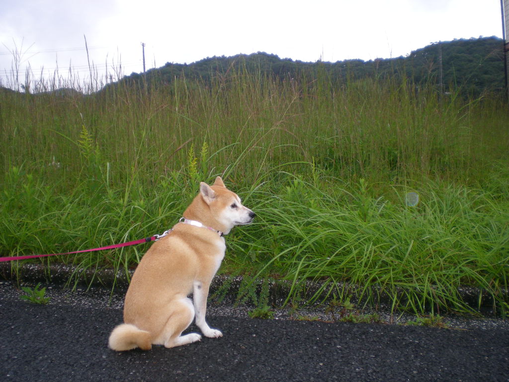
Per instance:
[[[162,335],[159,337],[164,346],[175,347],[200,341],[202,336],[197,333],[181,336],[194,318],[194,307],[191,300],[189,298],[178,299],[172,302],[171,310],[168,322],[166,322]]]

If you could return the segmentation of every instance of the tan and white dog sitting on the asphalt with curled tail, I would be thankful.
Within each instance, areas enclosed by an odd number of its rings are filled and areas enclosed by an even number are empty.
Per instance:
[[[181,336],[196,317],[206,337],[221,337],[205,321],[207,296],[226,249],[223,234],[250,224],[254,212],[224,186],[220,177],[184,211],[169,235],[156,241],[140,261],[127,290],[124,323],[109,336],[113,350],[154,345],[174,347],[199,341],[197,333]],[[193,293],[193,300],[187,296]]]

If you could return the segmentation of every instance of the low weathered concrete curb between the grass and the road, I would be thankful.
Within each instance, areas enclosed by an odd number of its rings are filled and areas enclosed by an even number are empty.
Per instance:
[[[51,264],[45,266],[42,264],[11,264],[0,263],[0,280],[12,280],[31,283],[52,283],[58,285],[91,286],[114,289],[118,292],[125,292],[129,286],[129,280],[134,270],[129,270],[128,274],[124,269],[115,272],[114,269],[83,269],[72,265]],[[220,301],[235,303],[241,301],[246,304],[256,304],[260,296],[267,298],[268,303],[274,306],[282,306],[287,302],[288,296],[292,293],[294,286],[287,280],[252,280],[244,279],[241,276],[231,277],[226,275],[217,275],[210,287],[210,294]],[[393,297],[381,287],[372,287],[372,293],[375,301],[367,301],[363,297],[362,288],[358,285],[347,283],[325,283],[325,282],[305,282],[298,290],[298,296],[303,301],[311,298],[317,303],[329,303],[336,294],[338,301],[344,301],[343,297],[351,296],[351,302],[356,306],[367,307],[391,307]],[[396,294],[399,298],[404,298],[403,288],[397,288]],[[458,288],[458,294],[463,302],[473,311],[483,315],[493,315],[495,301],[493,296],[484,290],[470,286]],[[503,291],[504,301],[509,303],[509,292]],[[291,302],[291,300],[290,300]],[[431,308],[431,307],[428,307]]]

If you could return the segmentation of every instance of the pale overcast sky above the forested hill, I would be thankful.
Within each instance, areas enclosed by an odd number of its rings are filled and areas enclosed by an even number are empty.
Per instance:
[[[0,0],[0,80],[21,70],[118,76],[265,51],[314,62],[405,56],[438,40],[502,36],[500,0]],[[24,74],[23,74],[24,75]]]

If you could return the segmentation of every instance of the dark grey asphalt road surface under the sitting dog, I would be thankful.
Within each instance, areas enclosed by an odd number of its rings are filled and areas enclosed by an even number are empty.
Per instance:
[[[509,381],[506,326],[447,330],[211,315],[222,338],[115,352],[107,338],[121,320],[119,307],[0,296],[0,381]]]

